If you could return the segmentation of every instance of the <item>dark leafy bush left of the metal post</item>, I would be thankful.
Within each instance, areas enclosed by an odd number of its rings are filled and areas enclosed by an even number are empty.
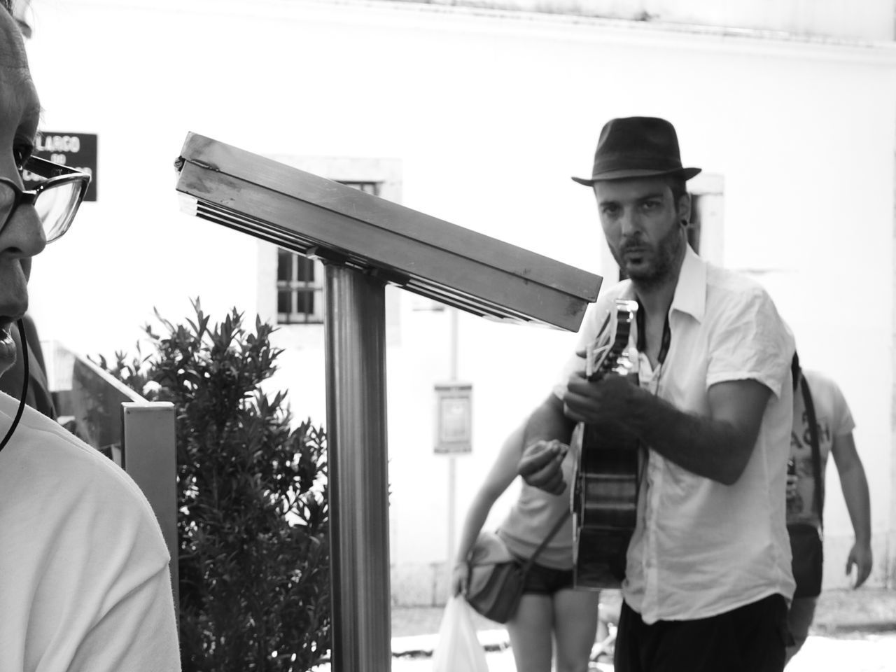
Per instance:
[[[330,648],[326,450],[323,430],[290,429],[282,392],[260,384],[279,349],[234,309],[209,325],[144,331],[152,351],[99,366],[150,401],[177,409],[180,636],[185,672],[298,672]]]

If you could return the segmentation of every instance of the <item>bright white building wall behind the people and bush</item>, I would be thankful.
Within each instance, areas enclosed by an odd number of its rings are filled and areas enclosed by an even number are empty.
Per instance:
[[[745,38],[558,15],[430,5],[254,0],[43,0],[30,59],[44,127],[99,134],[99,201],[34,263],[41,335],[130,349],[152,311],[189,298],[222,318],[259,302],[253,239],[177,211],[194,131],[281,156],[401,162],[403,204],[615,279],[587,189],[600,126],[665,116],[686,164],[724,179],[724,257],[765,282],[806,366],[857,420],[874,517],[872,582],[892,535],[892,46]],[[270,286],[271,294],[274,291]],[[446,312],[400,292],[388,351],[393,592],[444,597],[446,458],[433,385],[450,373]],[[323,339],[293,343],[274,381],[324,421]],[[498,444],[549,391],[573,335],[461,315],[474,449],[457,458],[455,521]],[[829,472],[828,585],[849,518]],[[498,520],[512,494],[496,507]]]

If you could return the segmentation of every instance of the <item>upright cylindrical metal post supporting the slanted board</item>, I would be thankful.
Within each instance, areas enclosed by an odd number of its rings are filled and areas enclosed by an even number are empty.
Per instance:
[[[392,666],[385,286],[326,265],[333,672]]]

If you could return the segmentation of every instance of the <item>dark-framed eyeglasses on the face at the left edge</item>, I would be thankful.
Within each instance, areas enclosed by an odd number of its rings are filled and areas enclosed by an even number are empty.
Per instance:
[[[22,172],[45,181],[34,189],[22,189],[8,177],[0,177],[0,229],[20,205],[33,205],[47,243],[52,243],[72,226],[90,185],[90,175],[38,157],[25,161]]]

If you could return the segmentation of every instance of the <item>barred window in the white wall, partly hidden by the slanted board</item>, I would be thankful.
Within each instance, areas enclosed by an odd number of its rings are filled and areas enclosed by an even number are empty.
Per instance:
[[[378,182],[348,182],[364,192],[379,195]],[[277,252],[277,323],[323,323],[323,263],[288,250]]]

